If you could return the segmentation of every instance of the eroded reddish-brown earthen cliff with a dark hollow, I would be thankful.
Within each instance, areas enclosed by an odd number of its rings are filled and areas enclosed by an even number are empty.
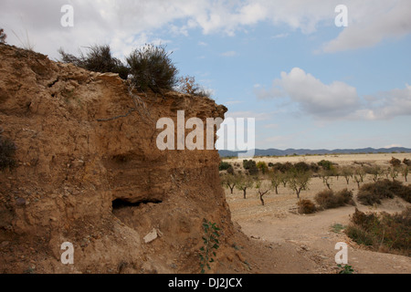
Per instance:
[[[0,272],[196,273],[204,219],[222,228],[213,269],[233,261],[217,151],[160,151],[155,124],[227,109],[176,92],[140,98],[115,74],[0,45],[0,127],[17,147],[16,169],[0,173]],[[64,242],[73,265],[60,261]]]

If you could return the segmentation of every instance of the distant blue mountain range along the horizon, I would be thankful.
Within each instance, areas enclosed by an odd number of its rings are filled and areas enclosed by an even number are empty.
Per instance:
[[[218,151],[220,157],[237,156],[238,153],[245,151]],[[392,147],[392,148],[363,148],[363,149],[335,149],[335,150],[310,150],[310,149],[256,149],[254,156],[290,156],[290,155],[323,155],[323,154],[351,154],[351,153],[401,153],[411,152],[411,149],[404,147]]]

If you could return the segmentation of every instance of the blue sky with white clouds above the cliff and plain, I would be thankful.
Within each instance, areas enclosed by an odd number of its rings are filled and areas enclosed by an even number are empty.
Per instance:
[[[65,4],[73,27],[60,25]],[[334,24],[340,4],[346,27]],[[51,58],[166,45],[227,117],[256,119],[260,149],[411,148],[410,15],[409,0],[5,0],[0,26]]]

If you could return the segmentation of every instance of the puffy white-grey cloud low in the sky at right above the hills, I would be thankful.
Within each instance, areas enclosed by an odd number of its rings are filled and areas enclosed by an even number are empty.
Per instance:
[[[411,116],[411,86],[360,98],[357,90],[342,82],[324,84],[301,68],[281,72],[271,89],[255,87],[258,99],[290,99],[303,114],[321,120],[390,120]]]

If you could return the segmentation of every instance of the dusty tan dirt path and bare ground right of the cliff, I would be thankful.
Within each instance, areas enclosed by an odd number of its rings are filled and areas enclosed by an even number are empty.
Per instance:
[[[313,182],[311,192],[304,193],[304,198],[312,199],[321,188],[320,183]],[[341,186],[344,186],[342,183]],[[352,185],[350,185],[352,187]],[[340,189],[337,185],[337,189]],[[353,266],[359,274],[409,274],[411,258],[403,255],[392,255],[366,250],[356,245],[342,232],[332,230],[334,224],[349,224],[354,206],[330,209],[312,215],[297,214],[297,199],[280,190],[279,194],[270,194],[266,205],[261,206],[258,198],[250,192],[248,199],[242,198],[237,190],[234,194],[227,192],[233,221],[256,245],[265,246],[266,256],[255,258],[263,268],[262,273],[336,273],[338,267],[335,255],[339,242],[348,245],[348,265]],[[409,205],[395,198],[385,201],[376,209],[357,203],[363,212],[401,212]],[[269,250],[268,250],[269,248]],[[269,253],[269,256],[267,256]],[[255,256],[255,255],[254,255]],[[266,258],[265,258],[266,257]]]

